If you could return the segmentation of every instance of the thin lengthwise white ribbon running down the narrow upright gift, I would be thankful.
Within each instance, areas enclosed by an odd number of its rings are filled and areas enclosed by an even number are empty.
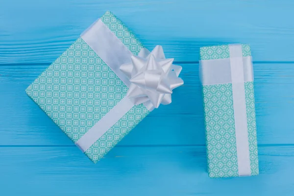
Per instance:
[[[239,176],[251,175],[241,45],[229,45]]]

